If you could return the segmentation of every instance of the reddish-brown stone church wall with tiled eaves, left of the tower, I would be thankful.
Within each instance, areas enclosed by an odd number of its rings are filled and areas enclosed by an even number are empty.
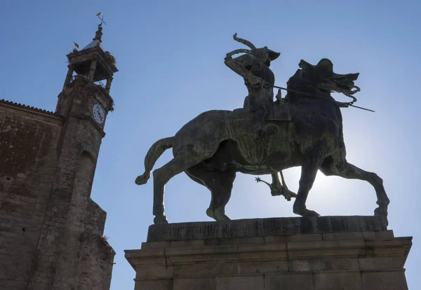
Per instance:
[[[0,106],[0,289],[26,289],[57,163],[61,120]]]

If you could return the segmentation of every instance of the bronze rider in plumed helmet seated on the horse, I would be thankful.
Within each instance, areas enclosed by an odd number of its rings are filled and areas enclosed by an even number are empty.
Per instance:
[[[236,34],[234,40],[245,44],[251,50],[237,49],[227,53],[225,64],[244,78],[248,96],[244,99],[243,108],[255,112],[253,127],[255,130],[261,130],[267,116],[273,115],[275,76],[269,69],[270,62],[276,60],[281,53],[269,50],[266,46],[256,48],[253,43],[239,39]],[[233,59],[232,55],[237,53],[245,54]]]

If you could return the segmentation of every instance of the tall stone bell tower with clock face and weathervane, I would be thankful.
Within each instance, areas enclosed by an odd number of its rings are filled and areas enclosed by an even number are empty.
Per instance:
[[[32,279],[48,271],[50,276],[39,289],[109,289],[115,252],[103,239],[107,214],[91,199],[105,120],[114,109],[109,92],[118,71],[115,58],[102,48],[102,23],[91,43],[81,50],[75,43],[67,55],[69,69],[55,109],[62,120],[57,163],[38,249],[49,258],[36,263]],[[80,274],[85,272],[95,275]]]

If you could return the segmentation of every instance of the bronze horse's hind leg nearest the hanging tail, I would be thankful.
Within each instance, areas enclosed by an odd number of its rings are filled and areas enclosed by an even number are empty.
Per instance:
[[[168,223],[164,215],[163,195],[166,183],[175,175],[199,163],[192,154],[179,154],[173,160],[154,170],[154,223]]]

